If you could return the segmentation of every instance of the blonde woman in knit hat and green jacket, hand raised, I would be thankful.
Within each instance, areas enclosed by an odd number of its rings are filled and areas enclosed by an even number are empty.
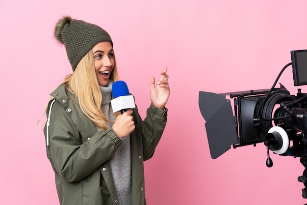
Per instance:
[[[74,71],[51,93],[44,128],[60,204],[146,205],[143,161],[153,156],[166,125],[167,67],[156,86],[151,80],[144,121],[137,107],[114,114],[111,88],[119,78],[109,34],[65,16],[54,36]]]

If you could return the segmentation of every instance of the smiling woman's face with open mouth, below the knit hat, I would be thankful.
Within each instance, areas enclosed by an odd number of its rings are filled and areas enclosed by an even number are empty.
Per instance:
[[[114,68],[113,47],[110,42],[104,41],[93,47],[93,57],[96,76],[99,85],[107,86]]]

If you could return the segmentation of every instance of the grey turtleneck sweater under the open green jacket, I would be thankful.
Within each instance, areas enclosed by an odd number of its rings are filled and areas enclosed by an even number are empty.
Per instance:
[[[112,83],[107,86],[100,86],[102,91],[102,112],[111,121],[115,121],[115,116],[111,107]],[[112,127],[109,123],[109,127]],[[100,130],[98,128],[98,130]],[[130,158],[130,136],[122,138],[123,143],[114,155],[110,158],[111,172],[119,205],[130,205],[131,201],[131,158]]]

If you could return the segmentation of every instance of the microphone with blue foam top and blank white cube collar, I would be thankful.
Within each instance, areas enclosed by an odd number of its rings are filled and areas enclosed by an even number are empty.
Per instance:
[[[113,112],[121,111],[123,114],[125,111],[131,108],[135,108],[134,97],[129,94],[129,89],[124,81],[116,81],[112,85],[113,100],[111,100],[111,106]]]

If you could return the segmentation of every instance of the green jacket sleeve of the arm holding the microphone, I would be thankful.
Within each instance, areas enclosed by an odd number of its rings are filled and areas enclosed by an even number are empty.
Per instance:
[[[44,133],[46,136],[46,126]],[[122,144],[122,140],[111,128],[97,131],[81,143],[76,125],[57,102],[51,110],[48,138],[47,156],[52,168],[68,182],[76,182],[92,174]]]

